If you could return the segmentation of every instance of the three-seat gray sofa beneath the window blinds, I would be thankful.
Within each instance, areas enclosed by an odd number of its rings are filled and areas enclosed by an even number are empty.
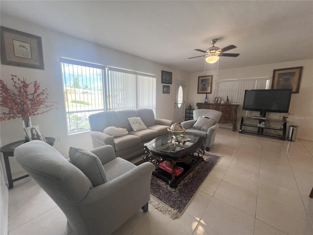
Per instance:
[[[133,131],[128,118],[140,117],[147,129]],[[90,136],[94,148],[112,145],[116,157],[129,159],[143,152],[144,143],[167,134],[167,128],[174,122],[156,119],[152,109],[105,111],[89,116]],[[103,132],[106,127],[126,128],[127,135],[112,137]]]

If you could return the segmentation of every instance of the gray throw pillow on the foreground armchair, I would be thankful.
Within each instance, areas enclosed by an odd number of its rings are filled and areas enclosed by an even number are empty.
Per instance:
[[[107,182],[106,172],[100,159],[88,150],[70,147],[69,159],[89,178],[93,187]]]

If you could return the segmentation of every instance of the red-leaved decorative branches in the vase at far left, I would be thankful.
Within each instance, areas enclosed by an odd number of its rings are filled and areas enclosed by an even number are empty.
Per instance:
[[[40,83],[35,81],[33,86],[27,83],[26,79],[20,79],[16,75],[11,75],[13,88],[8,86],[0,79],[0,106],[8,108],[8,112],[2,112],[0,121],[22,118],[27,120],[30,116],[44,114],[55,107],[57,102],[48,102],[47,89],[40,90]],[[33,87],[33,91],[29,91]]]

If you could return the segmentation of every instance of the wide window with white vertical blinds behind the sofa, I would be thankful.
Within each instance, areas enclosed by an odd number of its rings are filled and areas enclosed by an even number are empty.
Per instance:
[[[156,110],[156,76],[60,58],[68,134],[88,131],[90,114]]]

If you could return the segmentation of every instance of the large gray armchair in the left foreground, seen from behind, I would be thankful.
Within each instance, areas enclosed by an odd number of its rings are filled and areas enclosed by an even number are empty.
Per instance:
[[[14,156],[77,235],[110,235],[140,208],[148,211],[153,164],[115,158],[111,145],[70,148],[67,160],[44,141],[29,141]]]

